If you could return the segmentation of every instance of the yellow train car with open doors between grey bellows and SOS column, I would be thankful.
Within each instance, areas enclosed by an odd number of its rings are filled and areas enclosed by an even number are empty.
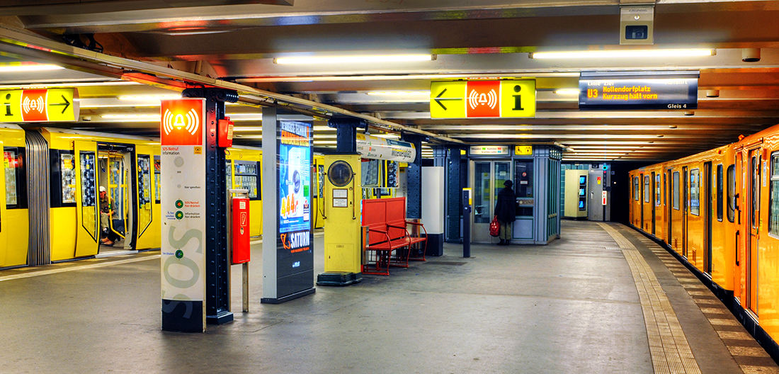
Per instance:
[[[51,261],[114,249],[160,248],[160,143],[157,139],[41,129],[51,160]],[[111,200],[101,245],[100,188]]]

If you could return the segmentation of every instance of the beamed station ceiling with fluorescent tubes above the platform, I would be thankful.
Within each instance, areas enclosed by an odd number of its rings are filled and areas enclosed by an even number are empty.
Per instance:
[[[646,3],[630,3],[635,2]],[[569,147],[569,160],[664,160],[731,143],[738,135],[779,123],[779,2],[649,2],[655,5],[654,45],[632,48],[619,45],[618,1],[482,0],[478,5],[469,0],[190,2],[199,6],[102,1],[92,8],[82,3],[80,10],[58,8],[61,1],[19,3],[0,5],[0,14],[7,15],[0,17],[5,30],[0,35],[0,52],[5,59],[62,62],[60,56],[47,55],[41,48],[20,47],[24,37],[12,37],[13,33],[48,40],[53,43],[47,44],[49,49],[74,38],[90,44],[89,34],[94,34],[104,50],[94,54],[93,65],[76,61],[92,58],[84,50],[71,54],[73,61],[65,61],[69,70],[26,76],[0,73],[6,86],[90,84],[79,86],[81,121],[60,124],[75,128],[145,135],[158,132],[158,124],[149,118],[133,118],[139,122],[103,118],[156,115],[159,111],[153,102],[117,97],[181,90],[181,85],[127,81],[129,72],[148,65],[217,79],[245,87],[246,92],[313,101],[308,104],[312,108],[321,103],[323,108],[381,118],[376,121],[384,123],[384,130],[394,129],[389,125],[393,122],[465,143],[557,142]],[[636,48],[710,48],[716,55],[611,60],[539,60],[528,55],[533,51]],[[760,48],[760,61],[743,62],[743,48]],[[273,62],[273,58],[290,56],[401,53],[432,54],[435,59],[362,65]],[[699,104],[694,112],[580,111],[576,95],[554,93],[577,88],[580,72],[667,70],[700,72]],[[537,79],[536,117],[431,119],[425,94],[421,98],[368,94],[428,91],[434,79],[484,77]],[[113,83],[91,85],[93,81]],[[707,97],[709,90],[718,90],[718,97]],[[251,104],[249,99],[245,102]],[[227,111],[233,118],[243,117],[236,125],[247,130],[239,132],[245,142],[259,141],[261,121],[256,106],[230,106]],[[322,126],[317,129],[321,130],[316,135],[318,146],[332,145],[334,132]]]

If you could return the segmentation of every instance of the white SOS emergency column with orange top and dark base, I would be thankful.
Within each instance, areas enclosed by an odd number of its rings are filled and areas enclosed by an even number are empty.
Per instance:
[[[206,330],[205,99],[162,101],[162,330]]]

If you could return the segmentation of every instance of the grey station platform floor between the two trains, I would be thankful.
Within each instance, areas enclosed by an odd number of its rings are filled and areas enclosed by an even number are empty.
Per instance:
[[[563,221],[551,245],[469,259],[447,244],[282,305],[259,303],[260,247],[251,312],[234,266],[235,321],[206,333],[160,331],[158,252],[4,270],[0,372],[779,372],[692,273],[619,224]]]

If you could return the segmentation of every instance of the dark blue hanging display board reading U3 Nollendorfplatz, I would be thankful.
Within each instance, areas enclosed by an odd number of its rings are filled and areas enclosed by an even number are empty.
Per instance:
[[[699,72],[582,72],[579,109],[680,110],[698,108]]]

